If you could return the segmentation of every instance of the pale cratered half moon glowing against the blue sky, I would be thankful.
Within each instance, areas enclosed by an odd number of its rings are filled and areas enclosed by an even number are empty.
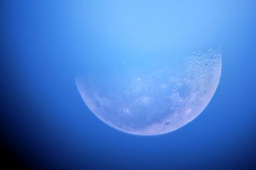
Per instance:
[[[129,134],[175,131],[211,101],[221,76],[221,49],[175,57],[116,60],[75,78],[84,103],[102,122]]]

